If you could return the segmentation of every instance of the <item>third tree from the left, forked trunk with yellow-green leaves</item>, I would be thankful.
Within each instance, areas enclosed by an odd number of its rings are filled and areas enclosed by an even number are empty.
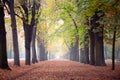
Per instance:
[[[30,52],[30,45],[32,40],[32,33],[33,33],[33,27],[35,26],[36,19],[39,17],[36,17],[37,14],[37,7],[36,5],[39,1],[37,0],[20,0],[20,6],[18,6],[22,17],[23,22],[23,29],[25,32],[25,64],[30,65],[31,61],[31,52]]]

